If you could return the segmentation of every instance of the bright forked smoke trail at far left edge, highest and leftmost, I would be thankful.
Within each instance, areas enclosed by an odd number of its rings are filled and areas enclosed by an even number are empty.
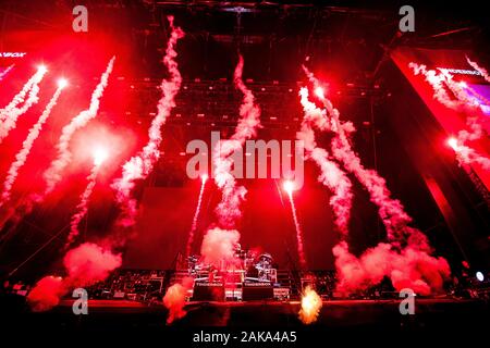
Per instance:
[[[26,113],[35,103],[38,102],[39,83],[45,76],[47,70],[38,69],[36,74],[24,85],[22,90],[13,100],[2,110],[0,110],[0,144],[9,135],[10,130],[15,128],[19,116]],[[27,99],[25,98],[27,96]],[[23,103],[22,107],[19,107]]]

